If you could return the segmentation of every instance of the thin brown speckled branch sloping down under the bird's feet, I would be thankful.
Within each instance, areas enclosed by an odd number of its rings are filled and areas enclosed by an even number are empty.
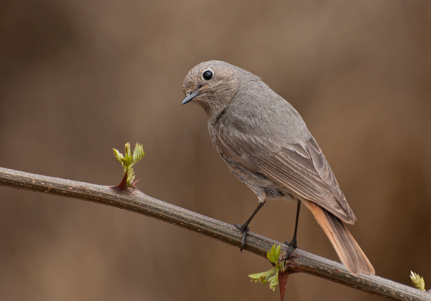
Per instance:
[[[3,167],[0,167],[0,186],[114,206],[201,233],[238,248],[241,244],[241,232],[235,226],[162,202],[139,190],[119,191],[115,187],[40,176]],[[248,232],[244,250],[266,259],[266,254],[273,244],[281,245],[282,251],[286,252],[285,244]],[[430,293],[375,275],[352,275],[343,265],[300,249],[292,251],[287,265],[294,273],[315,275],[387,299],[431,300]]]

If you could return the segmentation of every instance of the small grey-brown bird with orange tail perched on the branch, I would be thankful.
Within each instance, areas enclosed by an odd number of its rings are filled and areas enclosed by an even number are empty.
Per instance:
[[[232,173],[250,189],[259,205],[267,199],[298,202],[295,234],[286,258],[296,247],[300,204],[313,213],[352,274],[374,274],[374,268],[343,223],[356,217],[304,120],[295,108],[258,76],[222,61],[200,63],[189,71],[182,104],[198,103],[208,115],[212,143]],[[286,242],[287,243],[287,242]]]

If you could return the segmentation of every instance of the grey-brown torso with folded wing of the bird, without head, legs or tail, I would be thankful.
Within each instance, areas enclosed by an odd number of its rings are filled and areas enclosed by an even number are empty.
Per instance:
[[[245,82],[208,125],[232,173],[255,193],[261,187],[268,196],[278,191],[279,196],[308,199],[354,223],[354,213],[304,120],[259,78]]]

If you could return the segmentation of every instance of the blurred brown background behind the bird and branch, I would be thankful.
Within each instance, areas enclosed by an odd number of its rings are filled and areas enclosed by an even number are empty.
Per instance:
[[[257,198],[181,106],[187,72],[224,60],[301,113],[358,218],[378,275],[431,288],[429,1],[0,2],[0,166],[102,185],[112,148],[143,144],[138,188],[234,224]],[[293,233],[269,202],[251,230]],[[304,208],[299,246],[337,260]],[[196,253],[196,248],[200,249]],[[2,300],[278,300],[247,275],[267,261],[125,210],[0,187]],[[377,300],[296,274],[290,300]]]

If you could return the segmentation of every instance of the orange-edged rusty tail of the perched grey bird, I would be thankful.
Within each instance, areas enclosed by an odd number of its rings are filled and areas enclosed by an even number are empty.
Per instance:
[[[374,268],[339,218],[319,205],[305,200],[305,205],[313,213],[320,227],[325,231],[341,262],[350,273],[374,275]]]

